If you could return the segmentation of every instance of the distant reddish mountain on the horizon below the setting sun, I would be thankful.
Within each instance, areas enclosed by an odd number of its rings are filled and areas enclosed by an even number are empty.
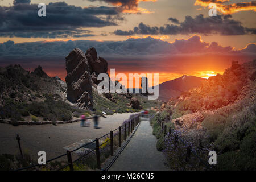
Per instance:
[[[205,78],[183,75],[180,78],[159,84],[159,100],[168,101],[189,89],[200,87]]]

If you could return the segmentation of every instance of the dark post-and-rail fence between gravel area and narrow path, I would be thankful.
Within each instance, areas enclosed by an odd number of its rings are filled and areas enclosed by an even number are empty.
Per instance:
[[[63,158],[64,156],[67,156],[67,162],[68,163],[64,164],[64,166],[61,166],[60,168],[58,168],[57,171],[60,171],[60,170],[63,170],[63,169],[69,169],[69,171],[73,171],[74,170],[74,165],[73,165],[74,163],[79,162],[80,160],[82,160],[86,156],[89,156],[89,154],[91,154],[91,155],[95,154],[97,169],[101,170],[101,163],[102,163],[101,162],[101,158],[102,158],[101,154],[104,153],[105,148],[110,148],[110,155],[113,156],[114,148],[116,149],[117,147],[121,147],[121,143],[124,140],[126,140],[127,135],[129,136],[130,133],[135,131],[134,130],[135,126],[137,126],[138,123],[140,122],[139,117],[140,117],[140,114],[131,115],[130,118],[127,120],[127,122],[125,121],[123,123],[123,125],[119,126],[117,129],[114,129],[113,131],[110,131],[108,134],[102,135],[100,138],[96,138],[92,142],[82,144],[80,147],[75,148],[72,151],[67,151],[66,154],[59,155],[59,156],[57,156],[56,158],[53,158],[53,159],[49,159],[49,160],[46,161],[46,164],[48,164],[49,162],[52,162],[53,160],[60,159],[60,158]],[[92,117],[90,117],[90,118],[92,118]],[[89,119],[89,118],[86,118],[86,119]],[[117,131],[117,132],[115,132],[115,131]],[[109,137],[107,137],[108,135],[109,135]],[[104,138],[104,137],[108,138],[108,139],[105,139],[104,142],[100,143],[99,140]],[[114,137],[115,137],[115,139],[114,139]],[[17,135],[16,139],[18,140],[20,152],[22,154],[22,150],[21,150],[21,147],[20,147],[20,137],[19,137],[19,135]],[[95,143],[95,148],[93,148],[92,150],[86,150],[85,149],[86,146],[90,146],[93,143]],[[81,148],[85,149],[84,154],[82,154],[80,152],[80,154],[79,154],[80,156],[77,159],[73,160],[72,159],[72,154],[75,151],[80,150]],[[31,166],[19,168],[19,169],[16,169],[14,171],[23,171],[23,170],[27,170],[27,169],[31,169],[31,168],[35,168],[35,167],[42,167],[42,166],[45,166],[45,165],[32,164]]]

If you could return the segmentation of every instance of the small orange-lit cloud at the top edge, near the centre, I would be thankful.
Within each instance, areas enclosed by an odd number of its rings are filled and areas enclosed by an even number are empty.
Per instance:
[[[110,3],[118,7],[118,10],[123,13],[152,13],[146,9],[142,9],[138,7],[140,1],[152,1],[155,2],[157,0],[89,0],[89,1],[104,1],[106,3]]]

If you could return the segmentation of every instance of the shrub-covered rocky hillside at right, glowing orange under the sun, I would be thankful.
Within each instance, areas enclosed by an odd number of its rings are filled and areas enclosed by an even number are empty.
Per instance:
[[[168,126],[191,143],[201,158],[208,160],[205,151],[217,152],[217,165],[213,166],[217,170],[256,169],[255,77],[256,60],[243,64],[232,61],[223,75],[210,77],[199,88],[162,107],[162,114],[172,114]],[[175,151],[168,143],[161,148],[174,152],[167,159],[173,167]]]

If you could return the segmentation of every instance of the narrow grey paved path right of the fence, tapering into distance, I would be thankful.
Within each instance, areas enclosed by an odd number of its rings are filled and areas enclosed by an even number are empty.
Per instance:
[[[152,135],[148,120],[142,120],[125,150],[118,156],[109,171],[166,171],[164,155],[156,150],[156,138]]]

